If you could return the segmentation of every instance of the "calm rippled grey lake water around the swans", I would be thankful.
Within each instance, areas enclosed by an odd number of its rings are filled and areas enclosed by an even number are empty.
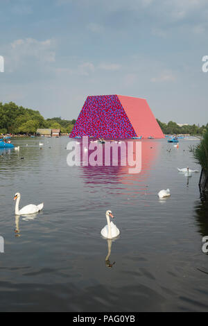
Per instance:
[[[0,157],[0,310],[207,311],[208,207],[199,173],[187,180],[177,172],[200,170],[189,152],[198,141],[182,139],[178,149],[142,141],[137,175],[123,166],[69,167],[69,138],[41,138],[42,150],[39,141],[15,139],[19,153]],[[171,198],[159,200],[167,188]],[[20,207],[44,201],[43,211],[15,219],[17,191]],[[114,241],[100,234],[107,209],[121,230]]]

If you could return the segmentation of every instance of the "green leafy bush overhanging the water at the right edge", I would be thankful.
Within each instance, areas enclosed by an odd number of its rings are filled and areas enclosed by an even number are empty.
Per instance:
[[[193,149],[193,155],[202,169],[208,172],[208,129],[202,137],[200,144]]]

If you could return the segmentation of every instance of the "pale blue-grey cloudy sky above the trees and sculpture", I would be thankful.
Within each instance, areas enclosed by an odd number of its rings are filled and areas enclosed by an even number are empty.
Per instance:
[[[0,101],[77,119],[89,95],[207,124],[207,0],[0,0]]]

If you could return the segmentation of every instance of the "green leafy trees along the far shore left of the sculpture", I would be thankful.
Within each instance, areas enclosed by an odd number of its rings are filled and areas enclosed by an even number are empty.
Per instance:
[[[13,102],[0,102],[0,134],[35,134],[37,128],[60,129],[69,133],[76,120],[64,120],[60,117],[44,119],[39,111],[18,106]]]

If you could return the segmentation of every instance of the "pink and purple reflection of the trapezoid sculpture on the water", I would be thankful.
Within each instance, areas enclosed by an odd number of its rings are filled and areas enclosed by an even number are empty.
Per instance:
[[[126,148],[128,148],[128,141],[125,142]],[[135,144],[137,141],[131,141]],[[79,169],[82,171],[82,177],[87,187],[94,188],[95,185],[107,185],[107,187],[114,186],[117,190],[117,194],[126,194],[130,192],[130,196],[135,197],[137,194],[146,195],[148,185],[146,180],[150,176],[150,170],[162,148],[162,143],[154,140],[144,140],[141,142],[141,171],[139,173],[130,173],[132,166],[121,166],[121,162],[125,161],[125,157],[121,156],[121,149],[118,151],[118,165],[114,166],[112,155],[110,157],[110,166],[105,166],[105,151],[103,144],[103,165],[102,166],[83,166],[83,161],[80,162]],[[80,148],[82,148],[82,141],[80,141]],[[90,151],[89,151],[90,154]],[[134,152],[134,160],[135,160]],[[122,187],[124,186],[124,187]],[[111,187],[112,188],[112,187]]]

